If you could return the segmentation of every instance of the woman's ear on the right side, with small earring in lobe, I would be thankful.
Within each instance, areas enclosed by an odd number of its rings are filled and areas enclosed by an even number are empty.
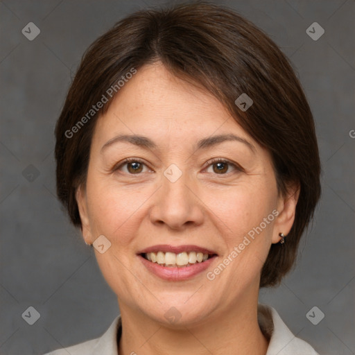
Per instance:
[[[285,195],[280,195],[277,203],[279,215],[275,220],[274,232],[272,234],[272,243],[279,243],[282,239],[279,233],[285,236],[291,231],[295,221],[295,212],[298,198],[300,196],[300,184],[290,184],[287,187]]]

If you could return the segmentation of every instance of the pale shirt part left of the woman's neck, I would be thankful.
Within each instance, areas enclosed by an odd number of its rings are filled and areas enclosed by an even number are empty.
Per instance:
[[[44,355],[116,355],[117,338],[121,336],[121,316],[118,315],[105,333],[96,339],[84,343],[62,347]]]

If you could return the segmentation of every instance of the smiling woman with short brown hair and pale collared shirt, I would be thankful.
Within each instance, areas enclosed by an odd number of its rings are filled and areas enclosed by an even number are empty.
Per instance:
[[[121,315],[50,354],[317,354],[258,304],[320,197],[311,110],[264,33],[203,2],[135,12],[85,53],[55,134]]]

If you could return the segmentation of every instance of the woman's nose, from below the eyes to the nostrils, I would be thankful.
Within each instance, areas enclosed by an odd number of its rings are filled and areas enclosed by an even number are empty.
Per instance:
[[[167,225],[172,230],[182,230],[188,225],[202,224],[203,218],[203,203],[187,175],[183,173],[175,182],[163,175],[162,187],[155,194],[150,209],[150,221]]]

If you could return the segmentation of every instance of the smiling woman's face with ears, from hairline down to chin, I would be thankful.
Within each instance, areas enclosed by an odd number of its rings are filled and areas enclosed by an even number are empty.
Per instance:
[[[269,153],[216,98],[161,64],[140,69],[98,119],[77,199],[121,311],[184,324],[255,301],[295,207],[278,196]]]

